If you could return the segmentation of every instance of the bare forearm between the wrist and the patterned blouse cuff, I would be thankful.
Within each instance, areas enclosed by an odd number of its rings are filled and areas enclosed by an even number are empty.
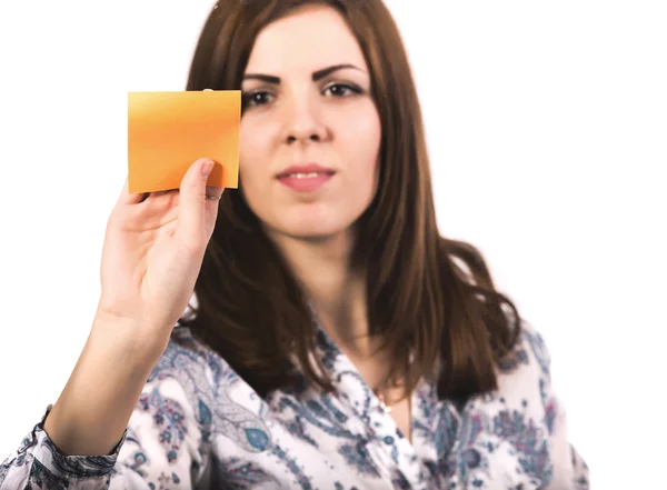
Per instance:
[[[132,338],[127,322],[96,317],[83,351],[44,431],[68,456],[109,454],[120,441],[168,338]],[[127,339],[127,340],[126,340]]]

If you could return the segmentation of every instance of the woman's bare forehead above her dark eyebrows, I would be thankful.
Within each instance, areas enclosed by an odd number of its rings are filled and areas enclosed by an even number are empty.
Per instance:
[[[342,16],[331,7],[309,6],[259,33],[246,70],[285,76],[339,63],[366,69],[361,48]]]

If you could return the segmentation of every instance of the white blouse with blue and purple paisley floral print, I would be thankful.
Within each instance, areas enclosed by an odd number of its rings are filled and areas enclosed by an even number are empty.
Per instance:
[[[497,391],[457,404],[418,387],[411,442],[322,329],[316,354],[335,392],[303,383],[261,399],[177,327],[111,454],[61,454],[43,431],[49,406],[0,464],[0,490],[589,488],[528,324]]]

